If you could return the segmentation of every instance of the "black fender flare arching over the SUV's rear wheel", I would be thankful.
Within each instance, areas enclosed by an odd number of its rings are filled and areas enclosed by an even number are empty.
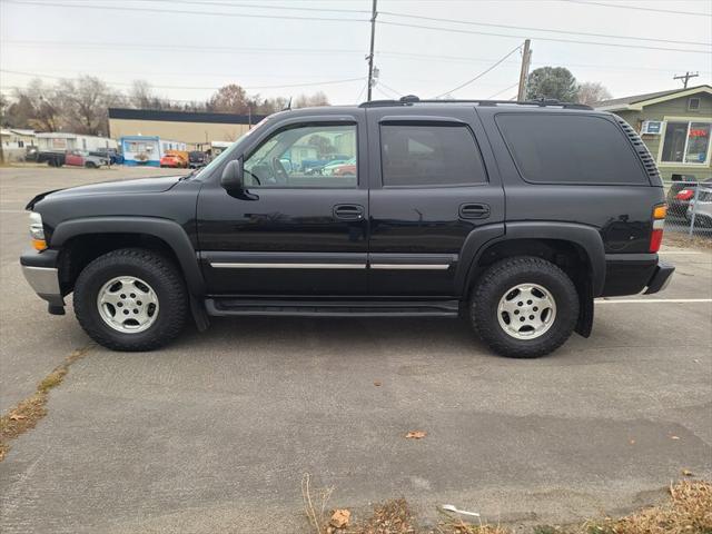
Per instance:
[[[476,254],[472,258],[468,268],[467,276],[463,280],[468,284],[474,276],[475,266],[482,255],[490,248],[490,246],[513,239],[556,239],[560,241],[568,241],[577,245],[587,256],[589,264],[591,265],[591,289],[593,296],[599,296],[603,293],[605,285],[605,248],[603,245],[603,238],[595,227],[580,225],[576,222],[550,222],[550,221],[517,221],[506,222],[505,231],[498,237],[493,237],[486,241],[477,239],[479,245]],[[469,236],[465,244],[469,240]],[[467,285],[463,286],[463,290]]]

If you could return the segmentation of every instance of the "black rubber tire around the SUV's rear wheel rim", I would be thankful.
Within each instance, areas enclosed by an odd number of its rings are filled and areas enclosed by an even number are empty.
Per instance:
[[[500,325],[497,306],[518,284],[536,284],[551,293],[556,305],[553,324],[541,336],[517,339]],[[578,294],[566,274],[542,258],[518,256],[492,265],[477,280],[469,317],[479,338],[495,353],[511,358],[537,358],[561,347],[578,318]]]

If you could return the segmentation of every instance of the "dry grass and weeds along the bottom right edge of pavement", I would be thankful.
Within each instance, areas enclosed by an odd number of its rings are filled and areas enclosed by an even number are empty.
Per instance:
[[[305,477],[308,482],[308,475]],[[303,493],[304,490],[303,481]],[[317,502],[314,497],[305,496],[307,516],[317,534],[712,534],[712,484],[703,481],[682,481],[671,485],[669,502],[622,518],[592,520],[575,526],[538,525],[530,530],[518,525],[516,531],[513,528],[517,525],[467,523],[444,512],[445,518],[437,526],[421,528],[404,498],[378,504],[369,517],[344,528],[334,528],[328,524],[330,512],[326,508],[332,492],[329,488],[319,494],[326,498],[318,497],[318,506],[314,505]]]

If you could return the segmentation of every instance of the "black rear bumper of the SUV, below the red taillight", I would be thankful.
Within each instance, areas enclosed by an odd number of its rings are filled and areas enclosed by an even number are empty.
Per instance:
[[[656,254],[606,254],[602,297],[652,294],[663,290],[675,270]]]

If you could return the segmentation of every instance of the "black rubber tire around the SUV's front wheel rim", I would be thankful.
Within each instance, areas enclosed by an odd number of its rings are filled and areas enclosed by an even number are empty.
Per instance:
[[[97,296],[117,276],[135,276],[155,290],[159,312],[144,332],[126,334],[101,318]],[[99,256],[80,273],[75,284],[75,315],[99,345],[113,350],[152,350],[176,338],[188,317],[188,295],[178,268],[165,256],[140,248],[122,248]]]

